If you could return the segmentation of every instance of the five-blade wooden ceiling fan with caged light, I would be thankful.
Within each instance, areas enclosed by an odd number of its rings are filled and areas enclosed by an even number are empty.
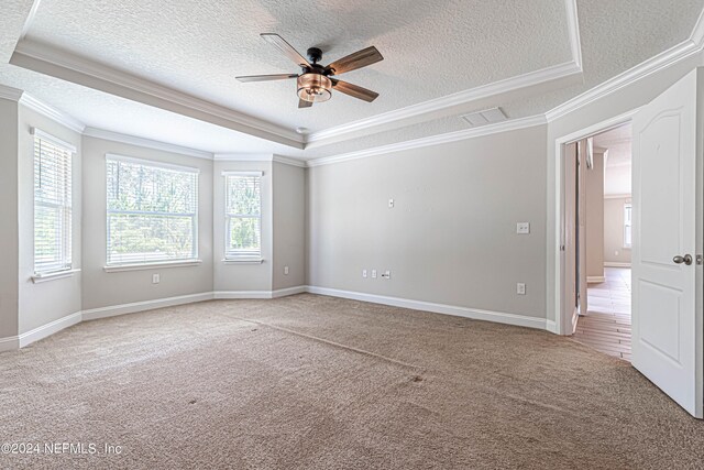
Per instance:
[[[362,51],[358,51],[323,67],[318,64],[322,58],[322,51],[318,47],[310,47],[307,51],[308,58],[306,59],[278,34],[262,33],[260,35],[268,43],[276,46],[276,48],[278,48],[286,57],[294,61],[302,70],[300,74],[249,75],[244,77],[235,77],[238,80],[249,83],[296,78],[299,98],[298,108],[310,108],[314,102],[329,100],[332,97],[332,89],[367,102],[374,101],[378,96],[375,91],[334,78],[336,75],[366,67],[367,65],[383,61],[384,57],[380,54],[376,47],[370,46],[363,48]]]

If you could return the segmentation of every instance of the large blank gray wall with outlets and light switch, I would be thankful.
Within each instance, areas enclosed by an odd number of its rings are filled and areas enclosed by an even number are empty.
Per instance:
[[[310,168],[308,282],[544,317],[546,147],[542,125]]]

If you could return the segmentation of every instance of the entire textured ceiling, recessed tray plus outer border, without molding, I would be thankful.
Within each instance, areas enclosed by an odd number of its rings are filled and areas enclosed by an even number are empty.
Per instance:
[[[432,119],[305,152],[199,122],[12,65],[30,10],[10,0],[0,15],[0,84],[21,88],[88,125],[211,152],[274,152],[305,159],[466,129],[459,116]],[[509,119],[546,112],[686,40],[704,0],[578,0],[583,81],[495,100]],[[310,13],[314,12],[314,13]],[[28,37],[89,57],[253,117],[312,130],[370,118],[570,59],[564,1],[155,2],[42,0]],[[293,83],[240,84],[235,75],[294,72],[258,37],[282,34],[323,62],[367,45],[385,61],[344,76],[375,89],[365,103],[338,95],[298,110]],[[477,105],[479,106],[479,105]]]

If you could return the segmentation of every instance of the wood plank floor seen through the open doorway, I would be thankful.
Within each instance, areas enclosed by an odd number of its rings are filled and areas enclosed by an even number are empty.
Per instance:
[[[580,316],[573,338],[630,361],[630,270],[606,267],[605,277],[588,285],[587,313]]]

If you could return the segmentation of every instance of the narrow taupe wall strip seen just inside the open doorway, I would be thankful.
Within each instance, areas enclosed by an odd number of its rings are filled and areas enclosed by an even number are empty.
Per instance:
[[[586,275],[604,276],[604,153],[586,172]]]

